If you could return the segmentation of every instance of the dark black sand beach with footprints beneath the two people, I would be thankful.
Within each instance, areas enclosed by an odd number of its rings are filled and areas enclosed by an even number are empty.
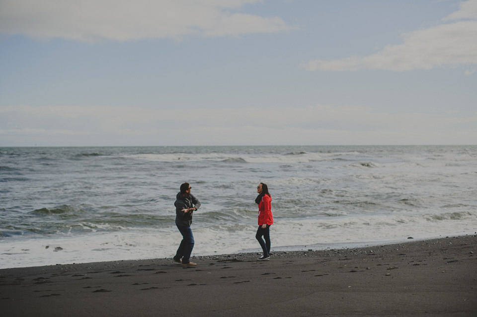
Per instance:
[[[0,270],[1,316],[477,316],[477,235]]]

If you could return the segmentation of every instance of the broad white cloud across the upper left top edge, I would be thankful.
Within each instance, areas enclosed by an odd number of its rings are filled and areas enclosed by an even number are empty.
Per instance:
[[[237,12],[259,0],[2,0],[0,33],[81,42],[238,36],[290,29],[279,17]]]

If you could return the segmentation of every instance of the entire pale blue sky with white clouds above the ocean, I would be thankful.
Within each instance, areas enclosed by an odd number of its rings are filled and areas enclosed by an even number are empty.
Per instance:
[[[477,0],[0,0],[0,146],[477,144]]]

